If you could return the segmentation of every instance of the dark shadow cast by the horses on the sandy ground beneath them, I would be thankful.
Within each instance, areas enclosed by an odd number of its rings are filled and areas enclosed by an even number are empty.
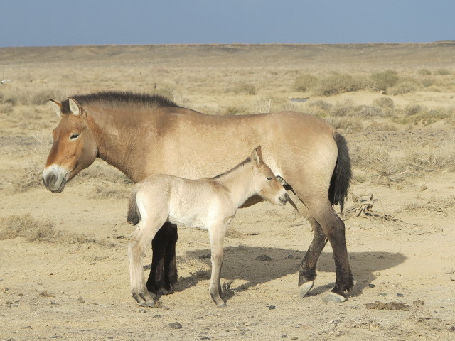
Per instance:
[[[327,247],[330,249],[330,247]],[[191,258],[200,258],[200,261],[205,262],[210,266],[210,249],[198,249],[197,251],[189,251],[186,256]],[[264,261],[268,256],[271,260]],[[223,269],[221,271],[223,281],[242,280],[247,281],[241,286],[234,288],[235,291],[242,291],[256,286],[257,284],[266,283],[274,279],[296,274],[304,254],[301,251],[292,249],[277,249],[272,247],[228,247],[225,248],[225,257]],[[350,266],[353,271],[355,287],[348,296],[358,296],[362,293],[363,288],[367,287],[375,280],[375,273],[385,269],[393,268],[402,264],[406,257],[401,253],[390,252],[350,252]],[[259,259],[257,259],[259,257]],[[239,266],[240,260],[240,266]],[[321,283],[316,277],[315,287],[309,293],[309,296],[317,295],[326,291],[330,291],[335,286],[335,265],[331,251],[326,251],[321,254],[318,261],[317,271],[332,272],[332,283]],[[210,279],[210,271],[197,271],[192,276],[180,278],[177,290],[183,291],[185,288],[195,286],[199,281]]]

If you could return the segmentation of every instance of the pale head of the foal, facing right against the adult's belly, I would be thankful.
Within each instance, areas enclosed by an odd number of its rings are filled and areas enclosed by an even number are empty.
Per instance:
[[[287,191],[279,182],[269,166],[262,161],[261,146],[257,146],[251,154],[251,162],[255,172],[255,190],[262,199],[272,204],[284,205],[289,200]]]

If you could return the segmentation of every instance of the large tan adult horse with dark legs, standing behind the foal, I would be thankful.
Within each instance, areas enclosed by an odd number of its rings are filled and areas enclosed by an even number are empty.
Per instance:
[[[130,92],[77,95],[57,102],[61,117],[43,171],[45,187],[60,193],[95,158],[134,182],[153,173],[209,178],[232,168],[261,145],[264,162],[304,203],[314,238],[299,267],[305,296],[314,286],[316,262],[331,243],[336,284],[326,301],[346,300],[353,278],[345,226],[333,205],[346,198],[351,178],[346,140],[322,119],[299,112],[216,116],[178,107],[159,96]],[[152,242],[147,288],[156,293],[177,281],[177,230],[164,224]]]

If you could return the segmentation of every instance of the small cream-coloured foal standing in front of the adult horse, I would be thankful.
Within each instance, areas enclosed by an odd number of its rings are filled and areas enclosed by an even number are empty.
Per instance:
[[[226,228],[252,195],[277,205],[289,199],[272,170],[262,161],[261,147],[230,171],[210,179],[188,180],[172,175],[151,175],[138,183],[129,200],[128,222],[138,224],[128,245],[129,275],[133,297],[143,306],[154,306],[147,290],[141,257],[165,222],[207,229],[210,237],[212,275],[210,296],[225,307],[220,285]]]

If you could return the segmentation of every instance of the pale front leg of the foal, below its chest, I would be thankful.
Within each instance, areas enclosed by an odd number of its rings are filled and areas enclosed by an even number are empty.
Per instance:
[[[210,277],[210,296],[218,308],[227,307],[221,292],[221,267],[223,266],[223,244],[225,239],[226,225],[221,224],[209,230],[210,251],[212,254],[212,276]]]

